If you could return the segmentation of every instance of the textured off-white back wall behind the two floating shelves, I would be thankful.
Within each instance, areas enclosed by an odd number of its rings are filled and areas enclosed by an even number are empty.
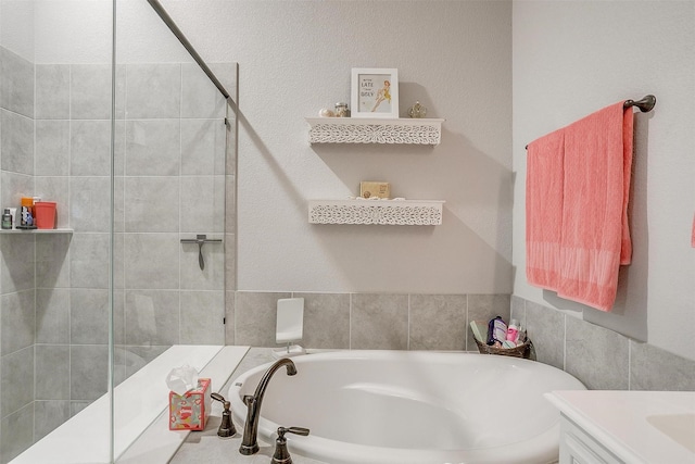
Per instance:
[[[239,63],[240,290],[510,292],[510,2],[163,4],[205,60]],[[442,145],[308,146],[352,67],[396,67],[401,114],[446,118]],[[361,180],[445,200],[444,224],[307,223],[308,199]]]

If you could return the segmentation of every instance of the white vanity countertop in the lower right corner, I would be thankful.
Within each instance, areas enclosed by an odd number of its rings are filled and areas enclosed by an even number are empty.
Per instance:
[[[624,462],[695,464],[695,391],[553,391],[545,397]]]

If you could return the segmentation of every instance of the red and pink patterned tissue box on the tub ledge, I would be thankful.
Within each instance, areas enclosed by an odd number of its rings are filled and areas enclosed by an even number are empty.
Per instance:
[[[169,430],[204,430],[212,403],[211,379],[199,378],[198,387],[184,394],[169,391]]]

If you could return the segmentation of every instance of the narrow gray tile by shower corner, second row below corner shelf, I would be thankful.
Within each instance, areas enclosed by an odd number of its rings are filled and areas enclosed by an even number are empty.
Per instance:
[[[36,290],[36,342],[70,343],[70,289]]]

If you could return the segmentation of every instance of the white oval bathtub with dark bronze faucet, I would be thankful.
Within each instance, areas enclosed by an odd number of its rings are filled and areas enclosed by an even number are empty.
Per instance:
[[[278,426],[291,452],[331,464],[556,462],[559,412],[543,393],[584,390],[571,375],[498,355],[416,351],[339,351],[292,359],[266,390],[260,438]],[[265,364],[239,377],[229,399],[243,424]]]

